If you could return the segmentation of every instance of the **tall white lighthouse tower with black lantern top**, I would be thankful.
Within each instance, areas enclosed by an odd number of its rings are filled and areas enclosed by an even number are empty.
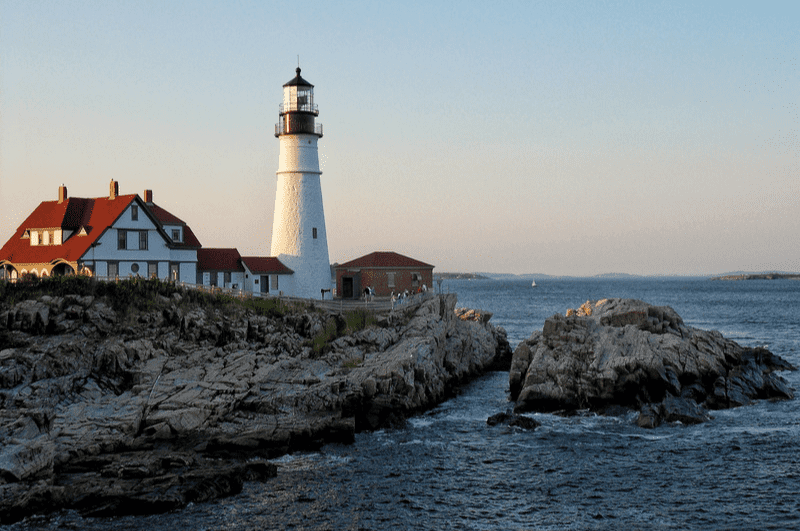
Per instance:
[[[272,222],[272,249],[294,271],[294,285],[283,285],[287,295],[317,299],[331,287],[328,236],[322,209],[317,141],[322,125],[314,103],[314,85],[300,77],[283,86],[283,103],[275,136],[281,143],[278,157],[278,189]]]

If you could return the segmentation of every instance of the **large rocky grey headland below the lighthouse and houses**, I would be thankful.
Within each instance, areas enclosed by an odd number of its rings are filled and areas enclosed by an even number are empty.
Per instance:
[[[510,362],[505,332],[455,304],[430,295],[350,332],[313,308],[264,316],[179,293],[130,312],[92,296],[0,301],[0,523],[235,494],[274,475],[270,458],[432,407]]]

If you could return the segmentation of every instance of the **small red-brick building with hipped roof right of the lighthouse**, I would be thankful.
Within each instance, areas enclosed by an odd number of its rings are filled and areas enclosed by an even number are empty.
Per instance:
[[[378,297],[406,290],[415,293],[423,285],[432,288],[433,267],[392,251],[376,251],[334,266],[336,296],[358,299],[367,287],[373,288]]]

